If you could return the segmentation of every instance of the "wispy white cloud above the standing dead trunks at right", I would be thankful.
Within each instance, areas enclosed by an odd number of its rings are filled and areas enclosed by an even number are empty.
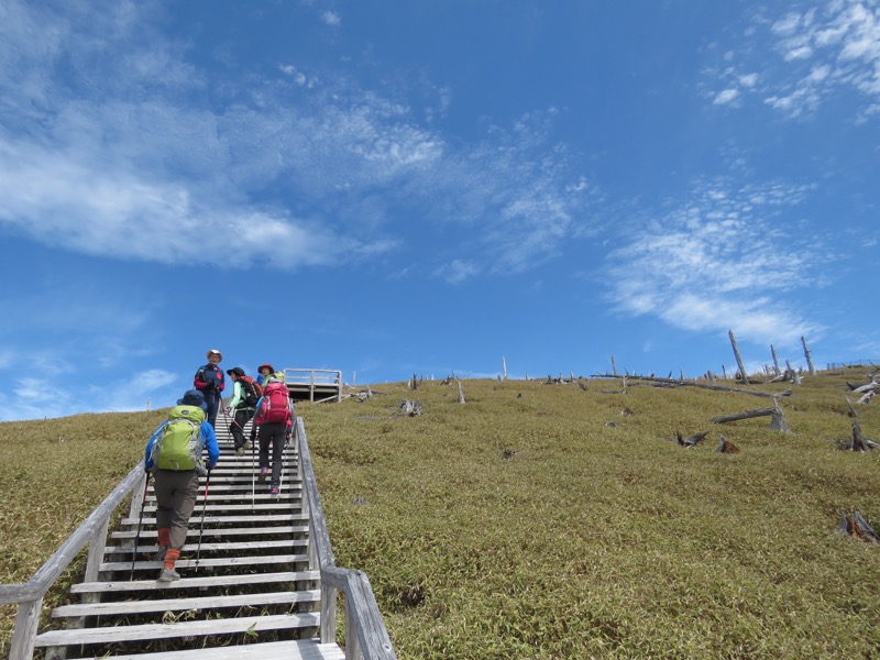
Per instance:
[[[803,187],[732,188],[718,179],[651,220],[608,256],[620,312],[651,315],[691,332],[730,328],[756,341],[793,341],[817,331],[780,294],[814,283],[791,237],[767,218],[799,204]]]

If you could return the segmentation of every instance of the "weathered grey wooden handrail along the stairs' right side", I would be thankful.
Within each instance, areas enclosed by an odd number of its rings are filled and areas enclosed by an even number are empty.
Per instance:
[[[330,534],[318,494],[315,470],[301,417],[296,419],[296,438],[302,476],[302,497],[309,507],[309,556],[321,571],[321,642],[336,641],[336,593],[345,596],[345,659],[395,660],[388,630],[382,619],[373,587],[362,571],[336,565]],[[314,550],[312,550],[314,547]]]

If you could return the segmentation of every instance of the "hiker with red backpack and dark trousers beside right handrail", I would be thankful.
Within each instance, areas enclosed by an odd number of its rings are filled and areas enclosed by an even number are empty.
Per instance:
[[[260,481],[270,479],[270,493],[277,495],[280,487],[282,458],[284,447],[290,438],[294,426],[294,404],[287,386],[274,374],[263,387],[263,396],[256,404],[254,432],[260,439]],[[272,447],[272,468],[268,449]]]

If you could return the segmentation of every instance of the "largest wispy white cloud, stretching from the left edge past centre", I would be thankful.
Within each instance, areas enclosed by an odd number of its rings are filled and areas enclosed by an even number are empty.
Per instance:
[[[4,6],[0,222],[33,240],[167,264],[220,265],[234,243],[240,264],[343,265],[397,250],[392,207],[418,207],[510,272],[583,229],[592,187],[549,140],[556,110],[452,145],[344,72],[318,82],[285,64],[235,87],[153,31],[154,6],[87,9]]]

